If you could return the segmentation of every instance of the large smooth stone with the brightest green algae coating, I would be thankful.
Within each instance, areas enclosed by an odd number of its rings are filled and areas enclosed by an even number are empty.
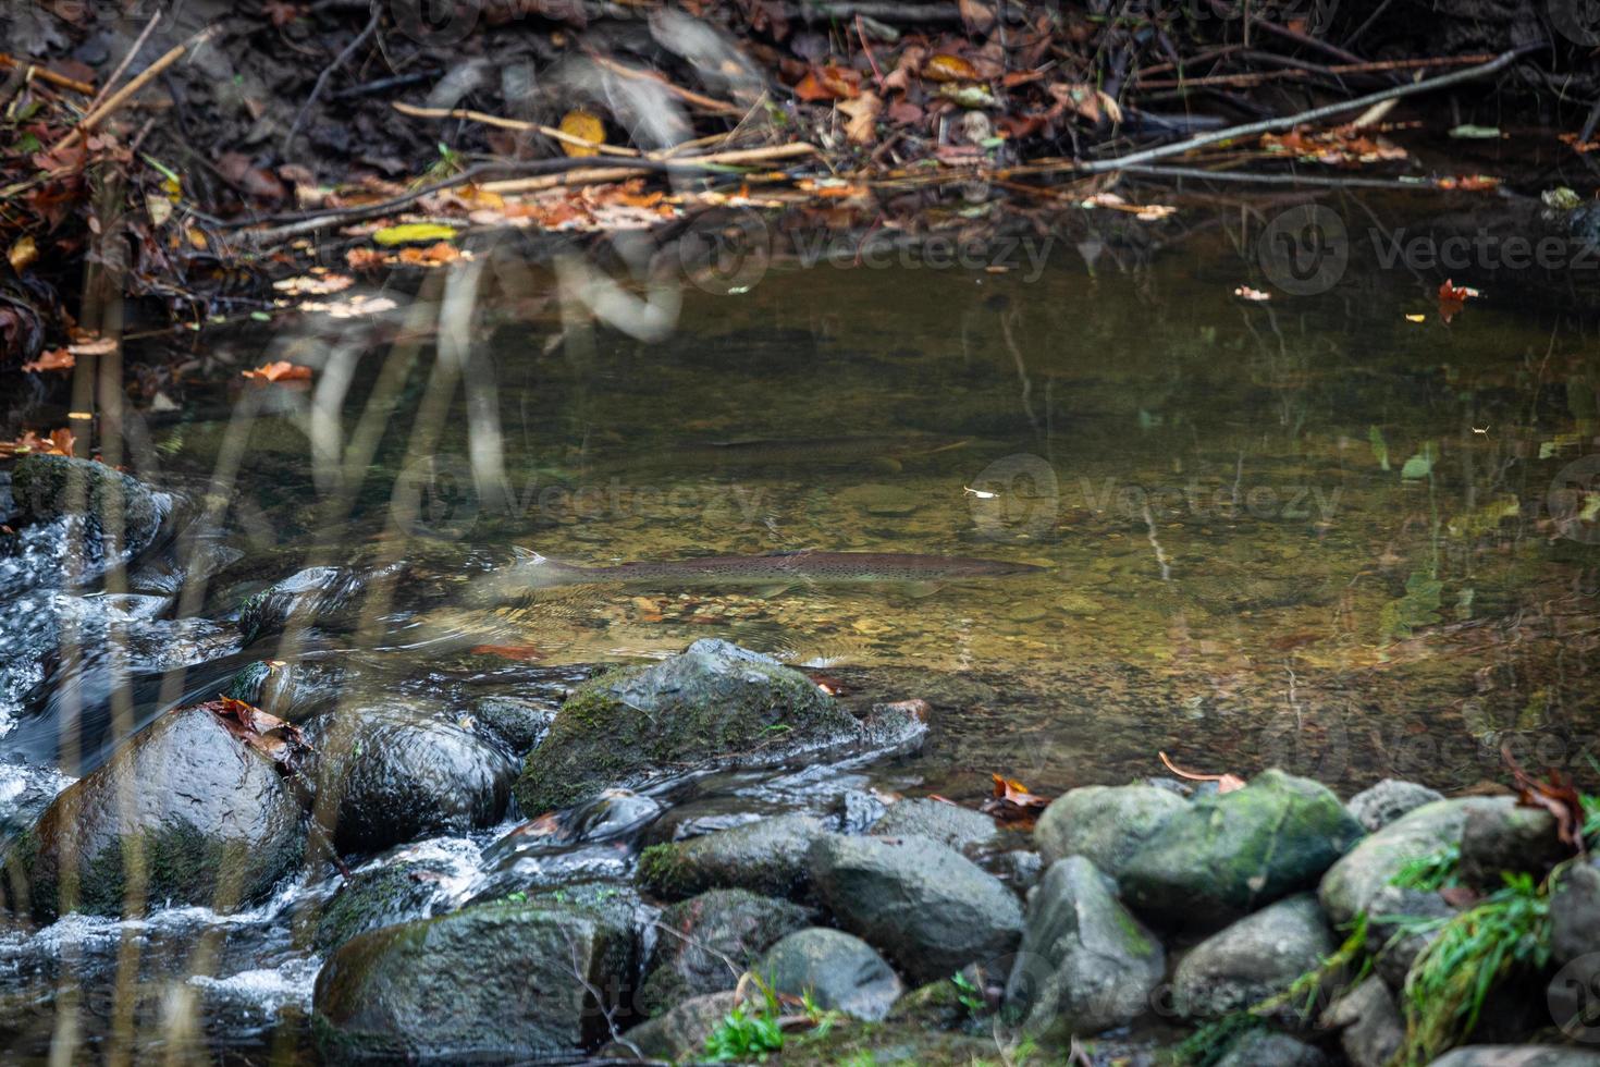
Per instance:
[[[1173,813],[1117,883],[1136,912],[1206,923],[1314,886],[1360,837],[1362,825],[1326,787],[1262,771],[1243,789]]]

